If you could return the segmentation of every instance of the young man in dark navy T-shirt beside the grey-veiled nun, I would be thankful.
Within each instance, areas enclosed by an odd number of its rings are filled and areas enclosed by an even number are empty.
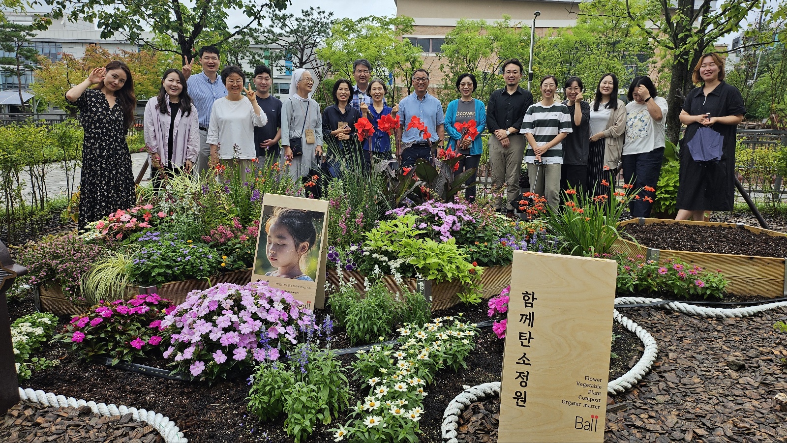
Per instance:
[[[266,158],[279,158],[279,140],[282,138],[282,101],[271,95],[273,76],[271,69],[259,65],[254,69],[254,84],[257,85],[257,103],[260,104],[268,123],[254,127],[254,146],[257,148],[257,165],[262,167]]]

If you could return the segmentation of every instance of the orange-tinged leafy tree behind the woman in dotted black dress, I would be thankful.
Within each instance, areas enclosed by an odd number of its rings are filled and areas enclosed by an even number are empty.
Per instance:
[[[34,73],[35,83],[31,84],[31,89],[39,98],[64,109],[71,116],[76,116],[76,106],[65,99],[65,92],[86,79],[93,68],[105,66],[113,60],[120,60],[128,65],[134,79],[135,93],[140,99],[158,94],[161,74],[172,65],[172,57],[167,57],[167,54],[150,50],[120,50],[112,53],[101,46],[90,45],[85,48],[82,58],[67,53],[62,54],[60,61],[39,57],[40,67]]]

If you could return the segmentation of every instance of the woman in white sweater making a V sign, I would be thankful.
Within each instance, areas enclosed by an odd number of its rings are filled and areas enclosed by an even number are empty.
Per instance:
[[[254,149],[254,127],[265,126],[268,117],[260,109],[257,97],[246,89],[246,74],[238,66],[227,66],[221,72],[227,87],[227,96],[213,102],[208,127],[208,144],[212,166],[221,162],[229,168],[240,167],[241,177],[246,180],[246,171],[252,171],[252,160],[257,159]],[[242,93],[246,92],[243,99]]]

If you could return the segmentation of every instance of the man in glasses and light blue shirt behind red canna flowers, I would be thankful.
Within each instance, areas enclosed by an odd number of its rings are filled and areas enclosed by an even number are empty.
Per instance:
[[[442,103],[427,93],[428,87],[429,72],[426,69],[416,70],[412,73],[414,92],[399,102],[401,125],[396,131],[396,155],[402,168],[412,167],[418,159],[431,161],[436,154],[434,151],[443,145],[445,115]],[[413,116],[423,122],[426,131],[407,128]]]

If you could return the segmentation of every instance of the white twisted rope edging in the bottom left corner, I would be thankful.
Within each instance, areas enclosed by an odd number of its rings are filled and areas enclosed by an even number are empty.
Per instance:
[[[131,412],[135,422],[147,422],[153,425],[154,428],[164,438],[165,443],[187,443],[188,439],[183,437],[183,432],[180,432],[175,422],[171,421],[169,417],[164,417],[153,411],[146,411],[145,409],[127,408],[126,406],[116,406],[114,404],[103,404],[94,401],[75,400],[74,397],[65,398],[62,395],[55,395],[54,393],[45,393],[41,389],[22,389],[19,388],[19,397],[22,401],[29,401],[31,403],[42,403],[46,406],[53,406],[56,408],[80,408],[82,406],[89,406],[96,414],[101,415],[126,415]]]

